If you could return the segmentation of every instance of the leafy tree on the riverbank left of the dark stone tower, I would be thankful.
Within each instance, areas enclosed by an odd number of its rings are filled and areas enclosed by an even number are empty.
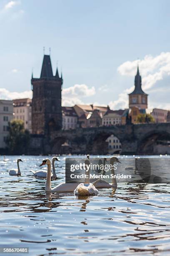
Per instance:
[[[30,142],[30,133],[24,128],[22,120],[12,120],[9,123],[7,148],[10,154],[27,154]]]

